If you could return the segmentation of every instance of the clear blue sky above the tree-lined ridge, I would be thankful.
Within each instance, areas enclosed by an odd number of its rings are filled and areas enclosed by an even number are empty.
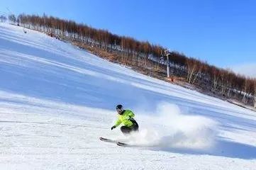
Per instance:
[[[118,35],[148,40],[256,77],[255,9],[256,1],[252,0],[0,2],[0,12],[45,12]]]

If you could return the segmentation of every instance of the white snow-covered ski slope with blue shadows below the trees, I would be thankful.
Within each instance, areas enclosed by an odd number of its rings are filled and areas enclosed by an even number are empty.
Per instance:
[[[0,169],[255,169],[255,112],[3,23],[0,71]]]

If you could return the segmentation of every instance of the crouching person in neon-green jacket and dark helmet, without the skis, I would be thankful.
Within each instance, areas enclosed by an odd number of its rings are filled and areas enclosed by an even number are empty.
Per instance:
[[[133,119],[135,115],[132,111],[123,110],[122,105],[116,106],[116,111],[118,113],[118,120],[116,120],[116,124],[112,126],[111,130],[113,130],[114,128],[118,127],[118,125],[123,123],[123,126],[121,126],[121,131],[124,135],[129,135],[130,132],[138,132],[139,125]]]

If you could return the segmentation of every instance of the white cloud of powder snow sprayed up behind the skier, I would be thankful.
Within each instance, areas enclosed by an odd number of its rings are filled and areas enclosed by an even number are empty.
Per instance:
[[[199,115],[184,114],[177,105],[160,103],[148,123],[133,134],[134,144],[188,149],[209,149],[214,146],[218,123]]]

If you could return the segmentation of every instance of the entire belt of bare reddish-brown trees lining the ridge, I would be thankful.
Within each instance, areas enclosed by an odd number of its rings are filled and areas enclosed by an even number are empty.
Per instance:
[[[165,48],[152,45],[148,41],[115,35],[108,30],[91,28],[82,23],[60,18],[21,14],[17,18],[9,16],[13,23],[26,28],[51,33],[60,38],[91,45],[106,52],[118,54],[118,61],[131,66],[143,67],[154,72],[165,72],[168,64]],[[228,69],[220,69],[186,57],[179,52],[169,52],[170,67],[173,76],[184,77],[190,84],[196,84],[215,94],[236,98],[256,107],[256,80],[235,74]]]

